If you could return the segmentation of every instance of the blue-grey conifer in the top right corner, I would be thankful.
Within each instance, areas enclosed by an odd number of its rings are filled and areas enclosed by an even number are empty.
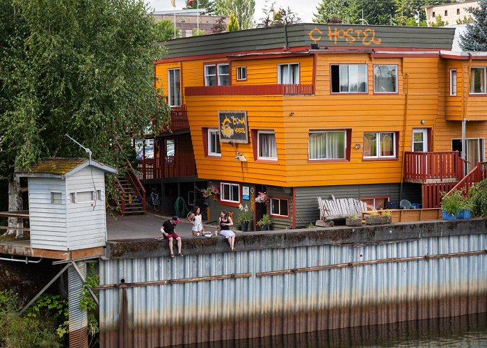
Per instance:
[[[469,8],[474,22],[467,24],[465,35],[460,36],[460,47],[465,51],[487,52],[487,0],[481,0],[479,7]]]

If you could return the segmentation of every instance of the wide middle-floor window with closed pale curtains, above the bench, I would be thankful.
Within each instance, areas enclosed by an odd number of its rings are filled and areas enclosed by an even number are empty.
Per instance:
[[[310,131],[309,159],[345,159],[346,132],[344,130]]]

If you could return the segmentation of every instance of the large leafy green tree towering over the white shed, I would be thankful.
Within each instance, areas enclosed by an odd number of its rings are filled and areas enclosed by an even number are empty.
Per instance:
[[[0,0],[0,176],[40,157],[86,156],[66,133],[120,168],[115,139],[129,150],[129,132],[168,121],[146,13],[143,1]]]

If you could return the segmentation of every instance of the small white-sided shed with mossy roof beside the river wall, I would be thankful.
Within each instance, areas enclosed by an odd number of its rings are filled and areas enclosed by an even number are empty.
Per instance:
[[[72,251],[105,246],[105,172],[85,158],[47,158],[29,172],[31,248]]]

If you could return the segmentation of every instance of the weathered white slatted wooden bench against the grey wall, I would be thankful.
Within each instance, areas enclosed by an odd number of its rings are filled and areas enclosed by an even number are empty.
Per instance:
[[[334,221],[344,220],[352,214],[367,210],[367,203],[355,198],[335,198],[324,200],[318,197],[319,220],[317,226],[333,226]]]

